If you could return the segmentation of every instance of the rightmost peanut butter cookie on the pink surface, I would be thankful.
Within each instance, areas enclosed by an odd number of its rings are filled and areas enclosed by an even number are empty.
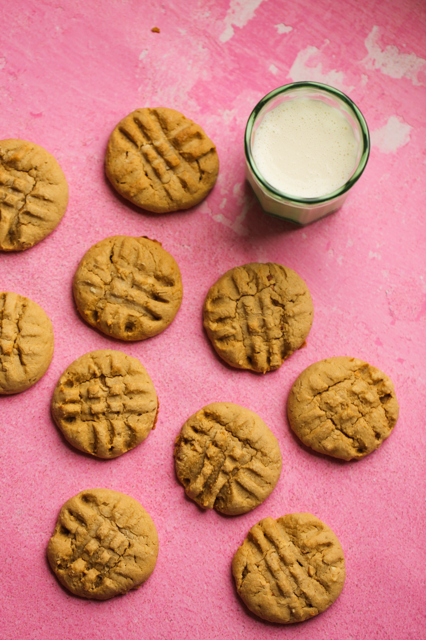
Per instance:
[[[390,436],[399,405],[392,381],[357,358],[326,358],[302,371],[287,402],[291,428],[308,447],[360,460]]]

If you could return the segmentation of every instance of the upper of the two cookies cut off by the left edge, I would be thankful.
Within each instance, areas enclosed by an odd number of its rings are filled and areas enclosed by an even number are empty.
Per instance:
[[[49,152],[26,140],[0,140],[0,250],[43,240],[67,204],[65,175]]]

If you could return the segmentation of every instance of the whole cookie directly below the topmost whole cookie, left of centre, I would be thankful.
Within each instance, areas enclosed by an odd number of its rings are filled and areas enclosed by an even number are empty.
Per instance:
[[[147,237],[112,236],[94,244],[75,272],[84,319],[121,340],[145,340],[169,326],[182,301],[176,260]]]

